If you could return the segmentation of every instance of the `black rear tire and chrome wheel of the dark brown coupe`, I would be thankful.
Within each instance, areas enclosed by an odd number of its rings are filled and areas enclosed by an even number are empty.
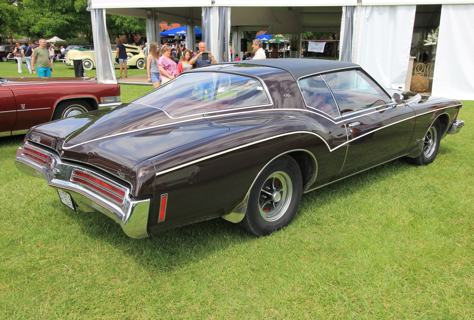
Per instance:
[[[255,236],[270,235],[288,226],[300,206],[301,171],[292,157],[273,160],[250,190],[244,219],[238,225]]]

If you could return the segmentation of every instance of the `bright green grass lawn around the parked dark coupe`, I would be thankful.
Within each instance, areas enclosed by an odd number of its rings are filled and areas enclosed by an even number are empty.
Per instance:
[[[20,173],[23,137],[0,138],[0,318],[473,319],[473,107],[432,164],[305,194],[264,238],[218,218],[131,239]]]

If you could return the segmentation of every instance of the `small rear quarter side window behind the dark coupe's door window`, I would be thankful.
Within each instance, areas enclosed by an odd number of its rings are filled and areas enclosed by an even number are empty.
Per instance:
[[[320,75],[298,81],[307,107],[322,111],[331,117],[339,116],[334,98]]]

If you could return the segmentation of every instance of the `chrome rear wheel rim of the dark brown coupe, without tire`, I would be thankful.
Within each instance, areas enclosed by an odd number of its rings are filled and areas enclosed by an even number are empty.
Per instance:
[[[258,208],[264,220],[275,221],[283,216],[290,205],[292,190],[292,180],[283,171],[274,172],[265,180],[258,197]]]

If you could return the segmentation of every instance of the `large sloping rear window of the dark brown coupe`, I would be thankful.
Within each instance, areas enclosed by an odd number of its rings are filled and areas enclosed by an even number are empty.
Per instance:
[[[270,104],[260,81],[222,72],[184,74],[133,101],[173,117]]]

